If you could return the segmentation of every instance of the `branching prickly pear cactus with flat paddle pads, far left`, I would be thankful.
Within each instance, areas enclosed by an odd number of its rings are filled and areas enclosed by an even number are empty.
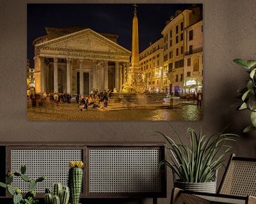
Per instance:
[[[28,182],[28,193],[26,193],[23,198],[21,194],[20,188],[13,188],[11,183],[14,181],[14,176],[20,177],[23,181]],[[13,196],[14,204],[36,204],[38,200],[36,199],[36,186],[38,182],[45,180],[45,176],[41,176],[38,179],[31,179],[28,175],[26,175],[26,166],[21,165],[21,172],[8,172],[6,176],[6,183],[0,182],[0,186],[3,188],[7,188],[7,191]]]

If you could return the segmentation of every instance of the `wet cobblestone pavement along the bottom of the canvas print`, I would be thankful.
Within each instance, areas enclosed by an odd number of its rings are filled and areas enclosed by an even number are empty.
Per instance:
[[[111,106],[110,106],[111,107]],[[77,103],[60,103],[46,108],[27,108],[28,120],[201,120],[203,109],[194,104],[170,108],[88,108],[80,111]]]

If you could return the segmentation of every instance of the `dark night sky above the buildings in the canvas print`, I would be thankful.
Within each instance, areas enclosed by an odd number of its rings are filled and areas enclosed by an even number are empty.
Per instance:
[[[137,4],[139,52],[161,38],[166,21],[191,4]],[[119,35],[118,43],[132,50],[133,4],[28,4],[28,59],[33,67],[33,40],[46,35],[46,27],[82,26],[98,33]]]

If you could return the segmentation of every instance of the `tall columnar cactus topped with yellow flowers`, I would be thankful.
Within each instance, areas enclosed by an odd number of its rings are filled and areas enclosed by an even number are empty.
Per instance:
[[[82,188],[82,161],[69,162],[68,186],[70,188],[70,203],[78,204]]]

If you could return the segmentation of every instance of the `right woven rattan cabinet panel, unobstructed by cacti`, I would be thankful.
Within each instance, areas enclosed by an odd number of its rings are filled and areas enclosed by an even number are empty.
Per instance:
[[[161,192],[159,149],[90,149],[89,193]]]

